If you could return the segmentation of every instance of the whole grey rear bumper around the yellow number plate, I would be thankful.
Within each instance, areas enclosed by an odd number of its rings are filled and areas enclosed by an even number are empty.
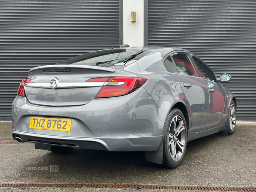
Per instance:
[[[58,143],[108,151],[157,151],[163,138],[166,112],[158,107],[156,116],[129,118],[129,111],[141,98],[152,99],[143,89],[119,98],[93,99],[86,105],[49,107],[31,104],[17,96],[12,105],[12,136],[23,142]],[[152,99],[151,103],[154,103]],[[30,119],[72,119],[70,131],[29,128]],[[157,125],[157,127],[156,127]],[[57,144],[57,145],[58,145]]]

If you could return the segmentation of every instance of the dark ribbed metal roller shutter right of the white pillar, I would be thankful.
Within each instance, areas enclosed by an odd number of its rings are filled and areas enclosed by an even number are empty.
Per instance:
[[[256,1],[148,0],[148,45],[202,58],[237,98],[237,120],[256,121]]]

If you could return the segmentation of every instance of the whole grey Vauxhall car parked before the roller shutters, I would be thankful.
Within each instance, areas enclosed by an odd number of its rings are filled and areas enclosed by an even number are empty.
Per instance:
[[[236,98],[196,55],[121,47],[35,67],[12,104],[12,137],[36,149],[145,151],[175,168],[189,141],[233,134]]]

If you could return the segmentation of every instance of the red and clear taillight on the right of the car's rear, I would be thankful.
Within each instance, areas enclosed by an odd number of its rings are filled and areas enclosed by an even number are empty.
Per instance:
[[[86,82],[105,82],[95,98],[127,95],[140,88],[148,79],[140,77],[93,78]]]

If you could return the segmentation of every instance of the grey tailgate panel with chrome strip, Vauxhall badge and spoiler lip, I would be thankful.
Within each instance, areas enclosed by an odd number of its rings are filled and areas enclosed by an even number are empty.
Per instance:
[[[90,102],[105,82],[85,82],[114,76],[115,69],[87,65],[48,65],[29,71],[32,83],[25,83],[29,102],[47,106],[74,106]]]

